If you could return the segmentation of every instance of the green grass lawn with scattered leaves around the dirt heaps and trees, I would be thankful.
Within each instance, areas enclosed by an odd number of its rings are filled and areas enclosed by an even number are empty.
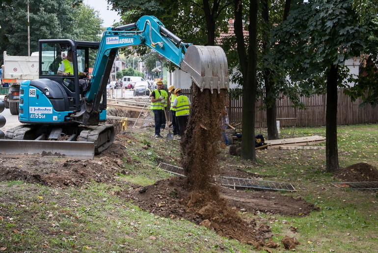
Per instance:
[[[256,130],[259,134],[260,130]],[[340,167],[367,162],[378,167],[378,125],[338,127]],[[133,148],[123,159],[130,174],[117,184],[54,188],[24,181],[0,182],[0,252],[267,252],[218,236],[185,220],[171,220],[140,210],[115,194],[132,184],[150,185],[170,176],[157,169],[164,161],[178,165],[178,142],[156,141],[152,129],[130,130]],[[261,132],[264,136],[266,133]],[[280,138],[319,135],[325,127],[281,128]],[[144,149],[146,144],[153,148]],[[325,145],[320,143],[318,145]],[[130,147],[130,145],[129,145]],[[284,217],[259,212],[271,226],[272,252],[286,251],[280,240],[296,237],[297,252],[378,252],[378,192],[340,189],[325,171],[325,150],[258,150],[257,163],[220,153],[219,166],[258,173],[265,180],[292,183],[303,198],[319,207],[310,215]],[[263,192],[262,192],[263,194]]]

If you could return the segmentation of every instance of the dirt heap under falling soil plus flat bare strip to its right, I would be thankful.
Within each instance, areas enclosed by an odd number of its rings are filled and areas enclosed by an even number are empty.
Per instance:
[[[301,198],[272,192],[243,192],[216,186],[206,191],[189,191],[188,181],[182,176],[160,180],[121,196],[132,199],[145,211],[171,219],[186,219],[256,248],[271,237],[270,227],[256,219],[243,220],[238,211],[301,216],[318,209]]]

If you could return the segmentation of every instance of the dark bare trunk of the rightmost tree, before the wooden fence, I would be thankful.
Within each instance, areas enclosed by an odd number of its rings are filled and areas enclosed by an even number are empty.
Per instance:
[[[327,70],[327,107],[325,112],[325,157],[327,172],[339,169],[339,155],[337,151],[338,68],[338,65],[332,64]]]

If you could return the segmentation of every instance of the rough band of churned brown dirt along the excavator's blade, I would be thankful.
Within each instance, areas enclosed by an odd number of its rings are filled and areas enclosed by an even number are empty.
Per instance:
[[[17,159],[1,160],[0,181],[23,180],[47,186],[82,186],[91,180],[115,182],[117,173],[124,170],[121,159],[127,157],[124,144],[116,138],[114,143],[94,160],[23,155]]]

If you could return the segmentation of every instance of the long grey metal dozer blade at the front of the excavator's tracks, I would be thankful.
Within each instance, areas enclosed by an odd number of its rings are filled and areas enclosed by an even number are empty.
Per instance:
[[[95,144],[92,141],[0,140],[0,157],[14,157],[17,154],[39,154],[93,159],[94,152]]]

